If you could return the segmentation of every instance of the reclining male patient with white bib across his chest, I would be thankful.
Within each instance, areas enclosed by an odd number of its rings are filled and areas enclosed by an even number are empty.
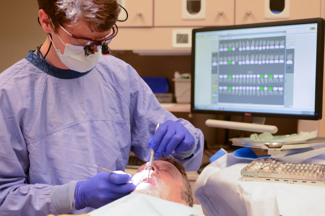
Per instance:
[[[148,172],[143,164],[132,177],[139,183],[135,191],[84,215],[203,215],[190,208],[193,194],[182,164],[161,158],[153,161],[149,179]]]

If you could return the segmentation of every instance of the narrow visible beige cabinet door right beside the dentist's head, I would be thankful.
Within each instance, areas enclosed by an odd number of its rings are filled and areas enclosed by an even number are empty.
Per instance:
[[[129,15],[125,22],[117,22],[118,27],[151,27],[153,23],[153,0],[120,0],[119,3]],[[125,19],[121,8],[119,19]]]

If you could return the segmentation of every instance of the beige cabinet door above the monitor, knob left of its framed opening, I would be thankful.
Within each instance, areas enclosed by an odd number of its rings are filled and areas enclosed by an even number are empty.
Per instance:
[[[235,24],[271,22],[289,19],[306,19],[320,16],[321,0],[291,0],[289,2],[289,18],[266,19],[264,0],[236,0]]]

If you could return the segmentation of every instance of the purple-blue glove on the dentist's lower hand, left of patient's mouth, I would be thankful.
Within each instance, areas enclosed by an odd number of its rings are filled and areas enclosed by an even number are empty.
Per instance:
[[[130,194],[136,189],[135,183],[127,183],[131,178],[130,174],[123,171],[99,172],[86,181],[77,182],[74,198],[76,209],[97,209]]]

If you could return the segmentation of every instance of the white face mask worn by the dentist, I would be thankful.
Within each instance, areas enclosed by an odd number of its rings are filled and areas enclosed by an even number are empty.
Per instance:
[[[58,35],[59,39],[61,42],[64,44],[62,41],[61,37]],[[50,37],[51,41],[52,38]],[[98,62],[99,58],[102,56],[101,54],[101,48],[97,46],[97,52],[92,57],[85,57],[85,51],[83,46],[75,46],[72,44],[64,44],[65,49],[64,49],[64,54],[61,54],[61,51],[57,49],[52,41],[52,44],[55,48],[55,50],[58,53],[58,56],[61,60],[61,62],[70,68],[71,70],[75,70],[78,72],[86,72],[88,70],[91,70],[95,67],[96,63]]]

